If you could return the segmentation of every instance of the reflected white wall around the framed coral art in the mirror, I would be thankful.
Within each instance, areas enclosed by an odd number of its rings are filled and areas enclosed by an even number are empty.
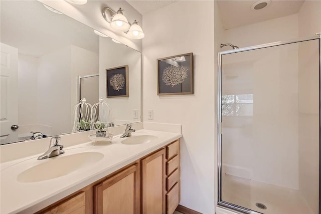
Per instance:
[[[140,121],[141,109],[141,54],[110,38],[99,40],[99,96],[112,108],[115,125]],[[128,65],[128,97],[106,98],[106,69]],[[133,110],[138,110],[138,118],[133,118]]]

